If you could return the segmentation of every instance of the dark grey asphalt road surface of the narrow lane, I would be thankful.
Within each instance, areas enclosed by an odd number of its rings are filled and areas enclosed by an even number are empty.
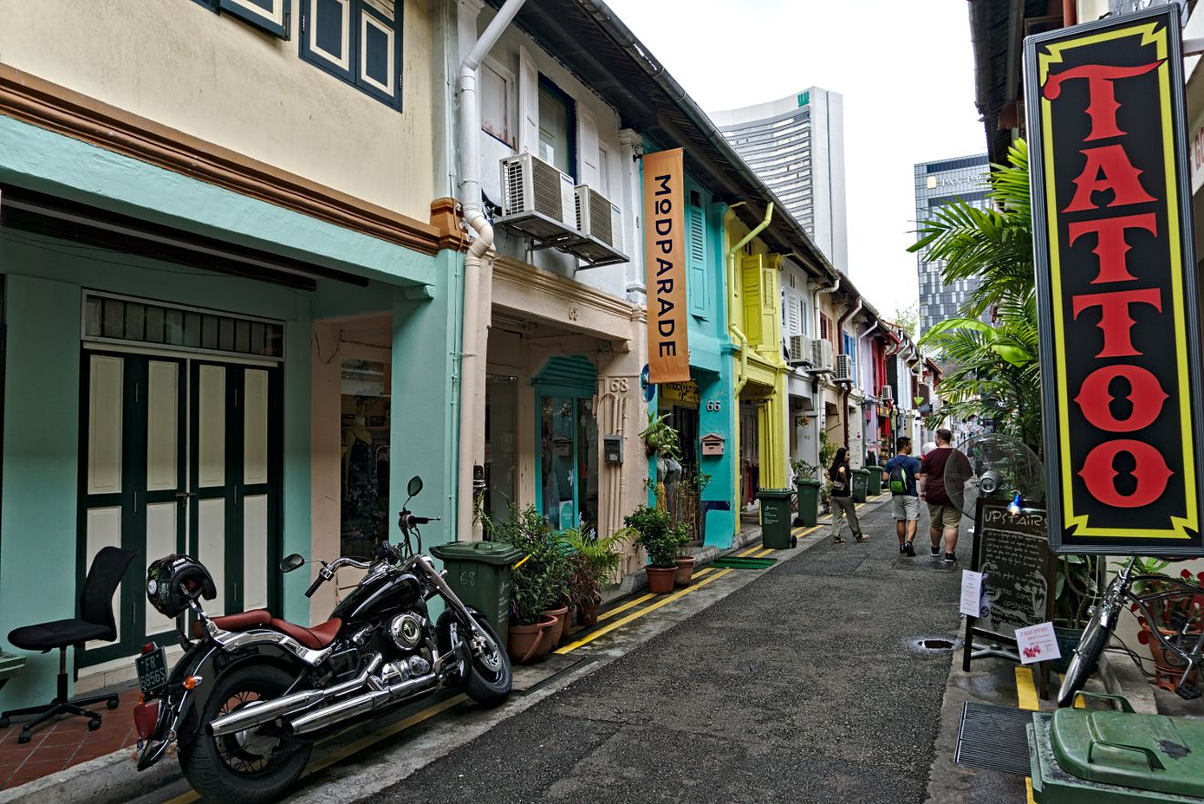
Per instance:
[[[957,628],[962,566],[926,525],[901,556],[880,506],[364,800],[923,802],[950,654],[914,643]]]

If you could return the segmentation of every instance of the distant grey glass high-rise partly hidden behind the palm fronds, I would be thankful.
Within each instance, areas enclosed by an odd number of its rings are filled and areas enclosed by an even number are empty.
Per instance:
[[[940,159],[915,166],[915,219],[922,225],[932,211],[954,199],[976,207],[987,206],[986,154]],[[920,335],[945,319],[960,315],[962,305],[976,286],[974,279],[958,279],[946,285],[942,279],[944,260],[928,260],[917,254],[920,273]]]

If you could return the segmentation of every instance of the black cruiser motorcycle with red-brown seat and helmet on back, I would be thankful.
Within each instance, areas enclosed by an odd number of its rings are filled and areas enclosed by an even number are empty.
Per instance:
[[[302,627],[262,609],[209,617],[200,598],[217,592],[200,562],[169,556],[152,564],[150,603],[181,623],[191,611],[195,622],[193,639],[179,628],[184,655],[170,675],[161,646],[147,645],[136,660],[138,770],[176,751],[203,796],[268,802],[297,780],[314,741],[337,727],[448,687],[483,705],[504,700],[512,673],[501,639],[423,554],[419,526],[438,518],[408,510],[421,489],[421,478],[409,481],[397,522],[402,543],[379,543],[370,562],[319,562],[306,597],[342,567],[367,571],[320,625]],[[281,572],[306,563],[293,554]],[[445,610],[432,623],[427,601],[436,596]]]

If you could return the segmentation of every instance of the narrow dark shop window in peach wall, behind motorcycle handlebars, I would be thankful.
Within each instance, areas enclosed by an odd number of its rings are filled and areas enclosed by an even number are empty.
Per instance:
[[[390,366],[343,360],[340,533],[344,556],[371,556],[388,539]]]

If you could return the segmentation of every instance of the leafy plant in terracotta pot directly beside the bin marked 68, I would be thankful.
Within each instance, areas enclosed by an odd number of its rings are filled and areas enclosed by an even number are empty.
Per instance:
[[[506,542],[526,557],[510,577],[510,658],[518,663],[542,658],[563,631],[555,611],[567,592],[567,561],[548,520],[535,506],[510,506],[506,521],[486,521],[490,538]],[[568,609],[565,608],[565,611]]]

